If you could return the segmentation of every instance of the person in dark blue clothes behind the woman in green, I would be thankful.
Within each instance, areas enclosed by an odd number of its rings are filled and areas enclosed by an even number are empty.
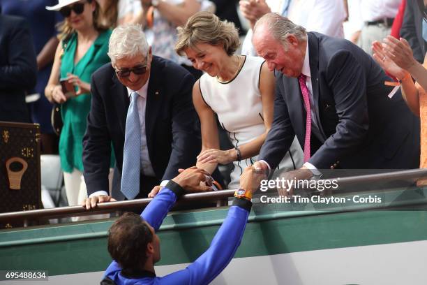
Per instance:
[[[45,6],[54,5],[56,2],[56,0],[0,0],[3,14],[24,17],[30,24],[38,72],[36,87],[27,92],[39,95],[38,100],[30,103],[29,107],[32,122],[40,124],[42,154],[58,153],[58,136],[54,133],[50,122],[52,103],[45,97],[45,87],[59,43],[55,25],[62,20],[59,13],[50,13]]]

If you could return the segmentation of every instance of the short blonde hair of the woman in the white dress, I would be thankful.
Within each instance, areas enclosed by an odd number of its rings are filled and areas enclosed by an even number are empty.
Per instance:
[[[198,12],[191,16],[185,27],[178,27],[178,40],[175,51],[183,55],[184,50],[197,43],[223,45],[228,55],[234,54],[240,45],[239,32],[234,24],[219,20],[209,12]]]

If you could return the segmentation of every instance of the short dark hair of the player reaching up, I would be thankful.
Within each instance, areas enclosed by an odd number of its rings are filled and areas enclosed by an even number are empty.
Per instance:
[[[135,213],[125,213],[108,231],[108,252],[128,274],[147,261],[147,244],[153,240],[148,224]]]

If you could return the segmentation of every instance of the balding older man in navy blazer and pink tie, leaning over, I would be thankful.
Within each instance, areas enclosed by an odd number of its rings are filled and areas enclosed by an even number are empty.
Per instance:
[[[276,70],[274,122],[257,166],[276,168],[297,138],[309,178],[329,168],[417,168],[419,119],[390,78],[356,45],[269,13],[255,25],[257,53]],[[307,110],[310,110],[308,112]]]

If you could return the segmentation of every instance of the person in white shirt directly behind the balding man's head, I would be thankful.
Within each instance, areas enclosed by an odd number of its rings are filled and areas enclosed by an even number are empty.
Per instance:
[[[288,17],[307,31],[344,38],[343,21],[347,14],[343,0],[242,0],[239,5],[251,27],[244,40],[242,54],[256,55],[252,28],[260,17],[270,12]]]

